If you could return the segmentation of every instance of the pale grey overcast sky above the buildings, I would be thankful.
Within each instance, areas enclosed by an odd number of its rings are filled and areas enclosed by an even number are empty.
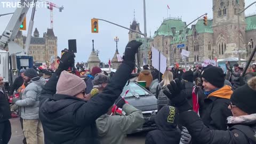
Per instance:
[[[41,0],[43,1],[43,0]],[[215,0],[214,0],[215,1]],[[3,8],[1,2],[18,2],[18,0],[0,0],[0,14],[14,12],[14,8]],[[51,1],[59,6],[63,5],[64,10],[59,12],[57,9],[53,12],[54,17],[54,34],[58,36],[58,55],[65,47],[68,47],[68,39],[77,39],[76,61],[87,61],[92,51],[92,39],[94,39],[94,48],[99,50],[99,58],[102,62],[107,62],[113,58],[116,43],[114,37],[119,37],[119,53],[124,52],[127,44],[129,30],[99,21],[99,33],[91,33],[91,18],[106,19],[116,22],[119,25],[130,27],[133,21],[133,10],[135,9],[135,18],[141,23],[140,30],[143,28],[143,1],[142,0],[85,0],[85,1],[68,1],[53,0]],[[245,0],[245,5],[249,5],[254,0]],[[147,11],[147,34],[161,26],[163,18],[167,17],[167,5],[171,17],[182,17],[183,21],[189,23],[199,15],[207,12],[209,18],[212,18],[212,1],[211,0],[148,0],[146,1]],[[256,7],[251,6],[246,10],[246,14],[255,13]],[[30,19],[31,10],[27,14],[27,23]],[[11,15],[0,17],[0,35],[2,35]],[[37,28],[40,36],[50,28],[50,11],[41,7],[35,14],[34,29]],[[34,31],[33,29],[33,31]],[[23,31],[23,35],[27,31]]]

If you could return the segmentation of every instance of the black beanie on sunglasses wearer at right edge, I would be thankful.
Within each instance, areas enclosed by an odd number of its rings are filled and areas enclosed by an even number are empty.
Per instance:
[[[231,95],[230,101],[247,114],[256,113],[256,77],[251,78],[247,84],[238,87]]]

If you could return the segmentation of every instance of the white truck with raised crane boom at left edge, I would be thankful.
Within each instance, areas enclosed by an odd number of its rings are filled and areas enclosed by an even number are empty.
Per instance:
[[[0,36],[0,75],[4,78],[5,89],[7,90],[9,90],[13,80],[18,77],[20,69],[33,67],[33,57],[28,56],[29,50],[27,47],[30,45],[35,7],[33,7],[33,19],[31,19],[29,23],[26,49],[24,50],[14,42],[14,38],[20,30],[20,25],[28,13],[29,4],[31,2],[33,2],[33,0],[20,0],[21,6],[18,6],[14,11],[11,20],[5,28],[2,36]],[[34,2],[36,2],[36,0],[34,0]]]

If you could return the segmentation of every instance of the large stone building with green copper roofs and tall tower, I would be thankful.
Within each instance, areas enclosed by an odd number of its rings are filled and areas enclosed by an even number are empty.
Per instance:
[[[238,18],[237,13],[245,7],[244,0],[212,2],[213,19],[208,19],[207,26],[203,19],[199,19],[191,28],[184,29],[187,23],[181,18],[166,18],[154,37],[149,38],[148,47],[160,50],[166,56],[168,66],[175,62],[184,65],[185,60],[193,65],[206,59],[238,57],[239,52],[242,59],[248,59],[255,46],[256,15],[245,17],[243,12]],[[129,38],[132,40],[134,36],[129,34]],[[141,38],[138,35],[136,39],[140,41]],[[179,44],[185,44],[185,47],[178,48]],[[182,59],[182,49],[190,51],[188,58]]]

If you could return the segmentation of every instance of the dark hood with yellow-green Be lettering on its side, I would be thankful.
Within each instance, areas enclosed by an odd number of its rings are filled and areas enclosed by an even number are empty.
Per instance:
[[[177,129],[178,122],[177,109],[171,106],[164,106],[154,116],[157,128],[161,131],[174,131]]]

